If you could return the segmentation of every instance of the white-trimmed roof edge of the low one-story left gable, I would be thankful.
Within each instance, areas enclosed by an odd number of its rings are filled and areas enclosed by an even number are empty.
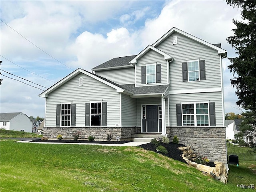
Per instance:
[[[73,78],[74,76],[76,76],[79,73],[86,74],[86,75],[116,89],[116,92],[126,92],[127,94],[132,94],[130,91],[125,90],[122,86],[120,86],[110,80],[107,80],[106,78],[103,78],[101,76],[98,76],[98,75],[88,72],[86,70],[78,68],[77,70],[73,71],[68,76],[64,77],[62,80],[60,80],[59,82],[57,82],[56,84],[54,84],[53,86],[51,86],[50,88],[48,88],[47,90],[42,92],[39,96],[40,97],[48,97],[48,94],[50,94],[52,91],[54,91],[57,88],[59,88],[60,86],[62,86],[64,83],[68,82],[71,78]]]

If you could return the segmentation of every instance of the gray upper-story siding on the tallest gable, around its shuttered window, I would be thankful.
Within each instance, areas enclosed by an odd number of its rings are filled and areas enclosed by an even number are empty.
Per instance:
[[[172,44],[172,37],[177,36],[177,44]],[[174,61],[170,63],[170,91],[191,88],[220,88],[220,57],[216,50],[200,44],[181,34],[174,33],[156,48],[170,54]],[[205,60],[206,80],[200,82],[182,82],[182,62],[187,60]]]

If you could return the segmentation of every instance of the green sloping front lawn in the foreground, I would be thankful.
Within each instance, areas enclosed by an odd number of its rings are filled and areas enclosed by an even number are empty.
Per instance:
[[[236,187],[240,182],[222,184],[187,164],[138,147],[13,140],[1,140],[0,145],[1,192],[243,191]],[[230,169],[230,175],[239,172]]]

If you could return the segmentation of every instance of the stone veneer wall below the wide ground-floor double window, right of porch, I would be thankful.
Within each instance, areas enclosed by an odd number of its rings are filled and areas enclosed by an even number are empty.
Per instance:
[[[179,143],[191,146],[195,153],[227,163],[225,127],[168,127],[166,131],[170,131],[170,141],[176,135]]]

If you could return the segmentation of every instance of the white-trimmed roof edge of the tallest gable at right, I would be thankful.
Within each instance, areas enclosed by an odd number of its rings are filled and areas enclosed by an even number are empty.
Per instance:
[[[212,49],[214,49],[214,50],[217,50],[217,51],[218,51],[218,54],[221,54],[221,55],[223,55],[223,56],[226,57],[227,51],[224,50],[224,49],[222,49],[222,48],[220,48],[220,47],[219,47],[219,46],[220,46],[219,44],[210,44],[210,43],[208,43],[208,42],[206,42],[206,41],[204,41],[204,40],[202,40],[202,39],[200,39],[200,38],[197,38],[197,37],[195,37],[195,36],[193,36],[193,35],[190,35],[190,34],[184,32],[184,31],[182,31],[182,30],[179,30],[179,29],[175,28],[175,27],[173,27],[172,29],[170,29],[170,30],[169,30],[166,34],[164,34],[160,39],[158,39],[156,42],[154,42],[154,44],[152,44],[152,46],[153,46],[153,47],[158,46],[161,42],[163,42],[166,38],[168,38],[168,37],[169,37],[171,34],[173,34],[174,32],[177,32],[177,33],[179,33],[179,34],[182,34],[182,35],[184,35],[184,36],[186,36],[186,37],[188,37],[188,38],[190,38],[190,39],[192,39],[192,40],[195,40],[195,41],[197,41],[197,42],[199,42],[199,43],[201,43],[201,44],[204,44],[204,45],[206,45],[206,46],[208,46],[208,47],[210,47],[210,48],[212,48]]]

